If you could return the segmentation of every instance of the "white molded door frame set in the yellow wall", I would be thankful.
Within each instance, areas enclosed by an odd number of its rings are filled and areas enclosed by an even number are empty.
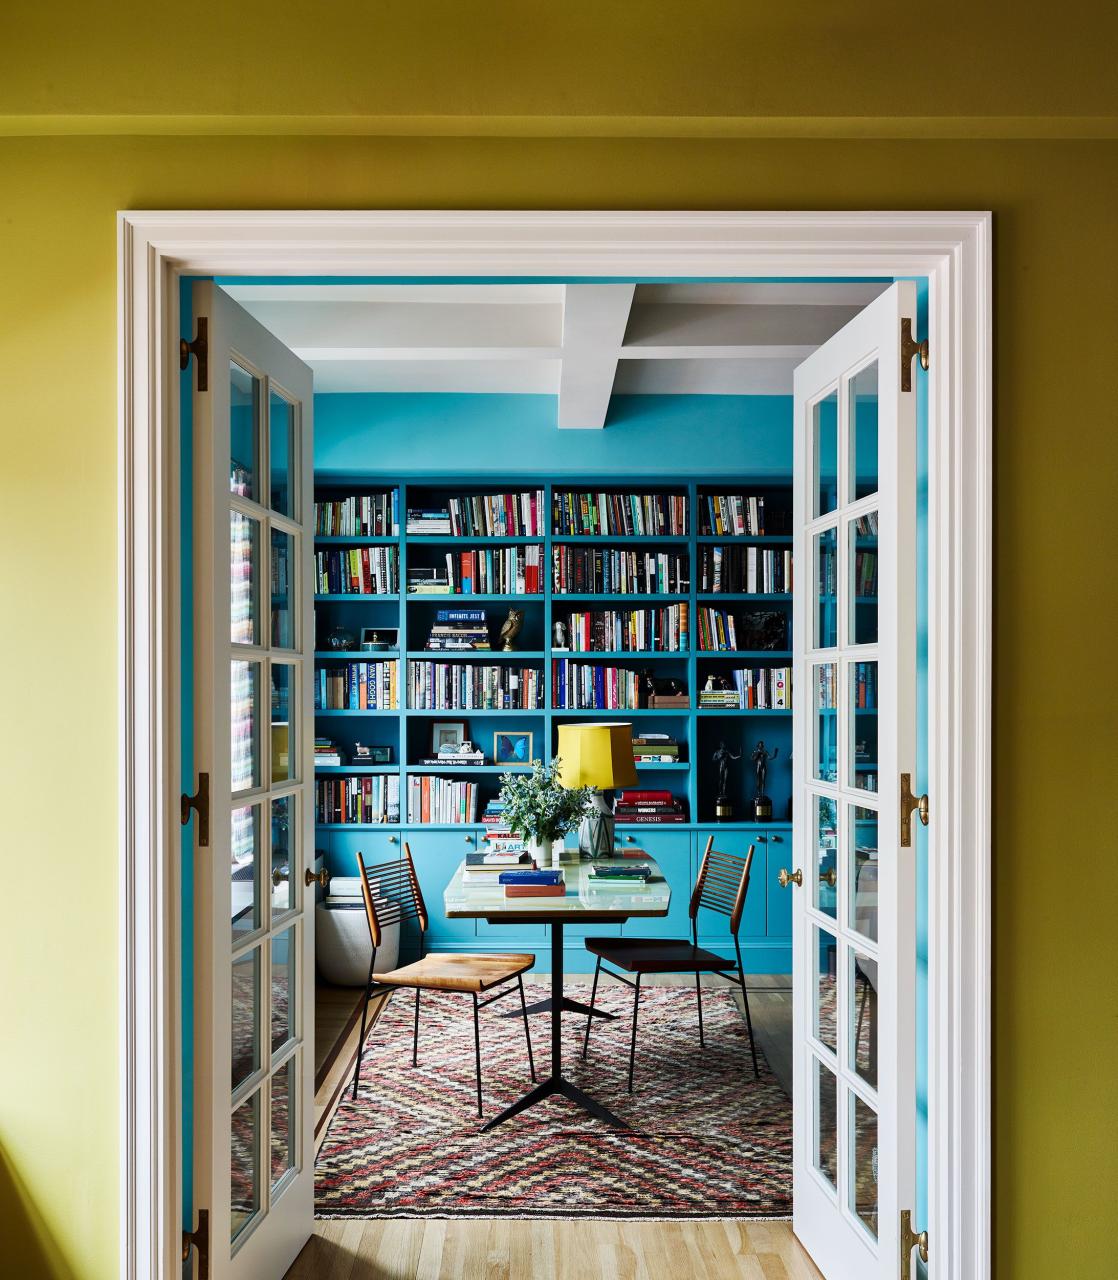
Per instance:
[[[122,212],[120,1274],[181,1257],[178,279],[927,276],[928,1221],[990,1276],[989,212]]]

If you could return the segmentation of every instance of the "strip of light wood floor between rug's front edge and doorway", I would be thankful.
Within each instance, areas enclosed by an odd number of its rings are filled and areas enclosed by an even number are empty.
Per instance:
[[[789,1222],[315,1222],[288,1280],[822,1280]]]

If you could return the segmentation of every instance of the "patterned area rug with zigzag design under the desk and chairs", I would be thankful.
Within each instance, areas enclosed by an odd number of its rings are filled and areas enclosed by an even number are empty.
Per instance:
[[[547,991],[533,984],[529,1002]],[[516,997],[482,1011],[485,1117],[531,1082],[524,1028],[501,1018]],[[318,1161],[319,1217],[744,1217],[791,1213],[791,1103],[761,1059],[727,991],[704,989],[706,1050],[694,991],[642,992],[636,1076],[625,1088],[631,996],[599,987],[583,1062],[584,1021],[563,1016],[570,1079],[629,1130],[565,1098],[549,1098],[479,1132],[470,1002],[423,995],[419,1066],[411,1066],[411,993],[389,1001],[369,1039],[355,1102],[347,1091]],[[537,1073],[547,1075],[551,1015],[531,1018]],[[759,1051],[758,1051],[759,1057]]]

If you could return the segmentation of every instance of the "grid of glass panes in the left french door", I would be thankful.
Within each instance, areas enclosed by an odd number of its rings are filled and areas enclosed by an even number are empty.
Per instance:
[[[300,406],[229,366],[231,1238],[300,1162]]]

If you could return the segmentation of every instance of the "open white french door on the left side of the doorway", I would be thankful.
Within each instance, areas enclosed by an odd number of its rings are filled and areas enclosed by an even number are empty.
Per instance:
[[[314,1216],[311,371],[216,285],[195,371],[195,1204],[214,1280],[278,1280]]]

